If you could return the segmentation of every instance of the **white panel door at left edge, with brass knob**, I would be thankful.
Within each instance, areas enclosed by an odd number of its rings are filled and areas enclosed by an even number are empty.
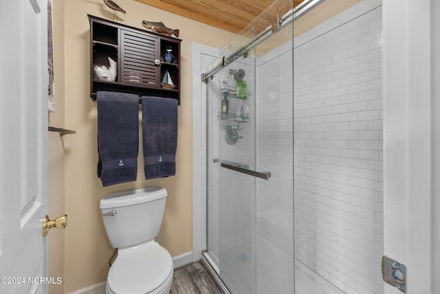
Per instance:
[[[0,165],[0,293],[47,293],[47,0],[0,1]]]

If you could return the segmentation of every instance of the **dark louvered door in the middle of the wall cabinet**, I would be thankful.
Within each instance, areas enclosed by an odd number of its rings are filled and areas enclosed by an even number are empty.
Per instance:
[[[121,83],[159,87],[159,39],[121,30]]]

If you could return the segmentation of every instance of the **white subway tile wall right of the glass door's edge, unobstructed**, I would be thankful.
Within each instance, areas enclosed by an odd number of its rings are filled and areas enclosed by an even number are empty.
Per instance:
[[[294,48],[295,257],[345,293],[384,292],[382,37],[376,8]]]

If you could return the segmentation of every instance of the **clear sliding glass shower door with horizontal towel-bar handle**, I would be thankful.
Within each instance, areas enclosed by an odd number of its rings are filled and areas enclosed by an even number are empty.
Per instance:
[[[294,293],[289,10],[275,1],[219,52],[228,64],[206,84],[205,256],[236,294]]]

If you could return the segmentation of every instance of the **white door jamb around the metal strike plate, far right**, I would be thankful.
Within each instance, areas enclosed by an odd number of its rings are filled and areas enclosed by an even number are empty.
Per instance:
[[[384,251],[406,265],[410,294],[439,292],[439,12],[384,1]]]

